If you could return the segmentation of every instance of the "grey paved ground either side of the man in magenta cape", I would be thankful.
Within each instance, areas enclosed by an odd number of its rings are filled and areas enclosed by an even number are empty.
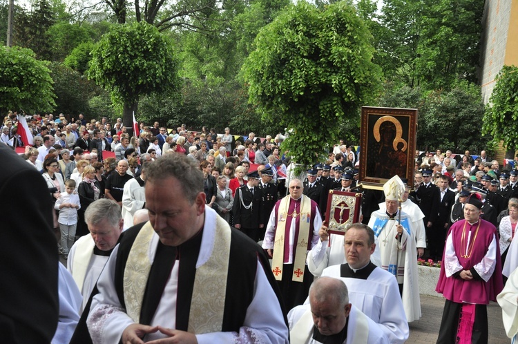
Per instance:
[[[441,318],[443,316],[444,299],[435,296],[421,295],[421,320],[410,323],[410,344],[432,344],[437,341]],[[509,344],[506,331],[503,329],[502,312],[497,303],[488,305],[489,341],[488,344]]]

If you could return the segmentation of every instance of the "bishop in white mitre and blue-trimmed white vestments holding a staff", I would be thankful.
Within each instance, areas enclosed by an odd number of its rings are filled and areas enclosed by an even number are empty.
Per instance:
[[[412,228],[414,222],[406,213],[398,209],[405,193],[405,185],[397,175],[383,185],[385,211],[377,210],[371,215],[368,226],[378,238],[381,268],[396,278],[403,299],[407,321],[421,318],[419,285],[417,282],[416,240]]]

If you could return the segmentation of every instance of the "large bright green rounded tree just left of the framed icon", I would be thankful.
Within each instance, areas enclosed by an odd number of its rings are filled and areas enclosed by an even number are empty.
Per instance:
[[[336,123],[356,117],[381,78],[370,33],[345,1],[318,10],[299,1],[262,28],[244,63],[251,102],[266,120],[293,128],[283,143],[294,162],[309,165]]]

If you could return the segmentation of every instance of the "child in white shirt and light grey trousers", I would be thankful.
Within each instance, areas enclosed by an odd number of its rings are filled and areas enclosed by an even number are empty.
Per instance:
[[[65,259],[68,258],[68,251],[75,240],[75,229],[77,227],[77,209],[81,207],[79,204],[79,195],[74,193],[75,180],[69,179],[65,182],[65,191],[61,193],[61,198],[56,200],[55,209],[59,210],[59,229],[61,231],[61,240],[59,240],[59,254],[63,254]]]

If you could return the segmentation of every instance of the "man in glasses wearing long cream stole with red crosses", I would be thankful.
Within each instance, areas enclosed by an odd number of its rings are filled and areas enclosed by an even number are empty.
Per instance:
[[[303,182],[289,182],[289,195],[278,200],[268,221],[262,248],[272,258],[272,271],[287,309],[304,303],[313,281],[307,251],[318,242],[322,218],[318,204],[303,195]]]

